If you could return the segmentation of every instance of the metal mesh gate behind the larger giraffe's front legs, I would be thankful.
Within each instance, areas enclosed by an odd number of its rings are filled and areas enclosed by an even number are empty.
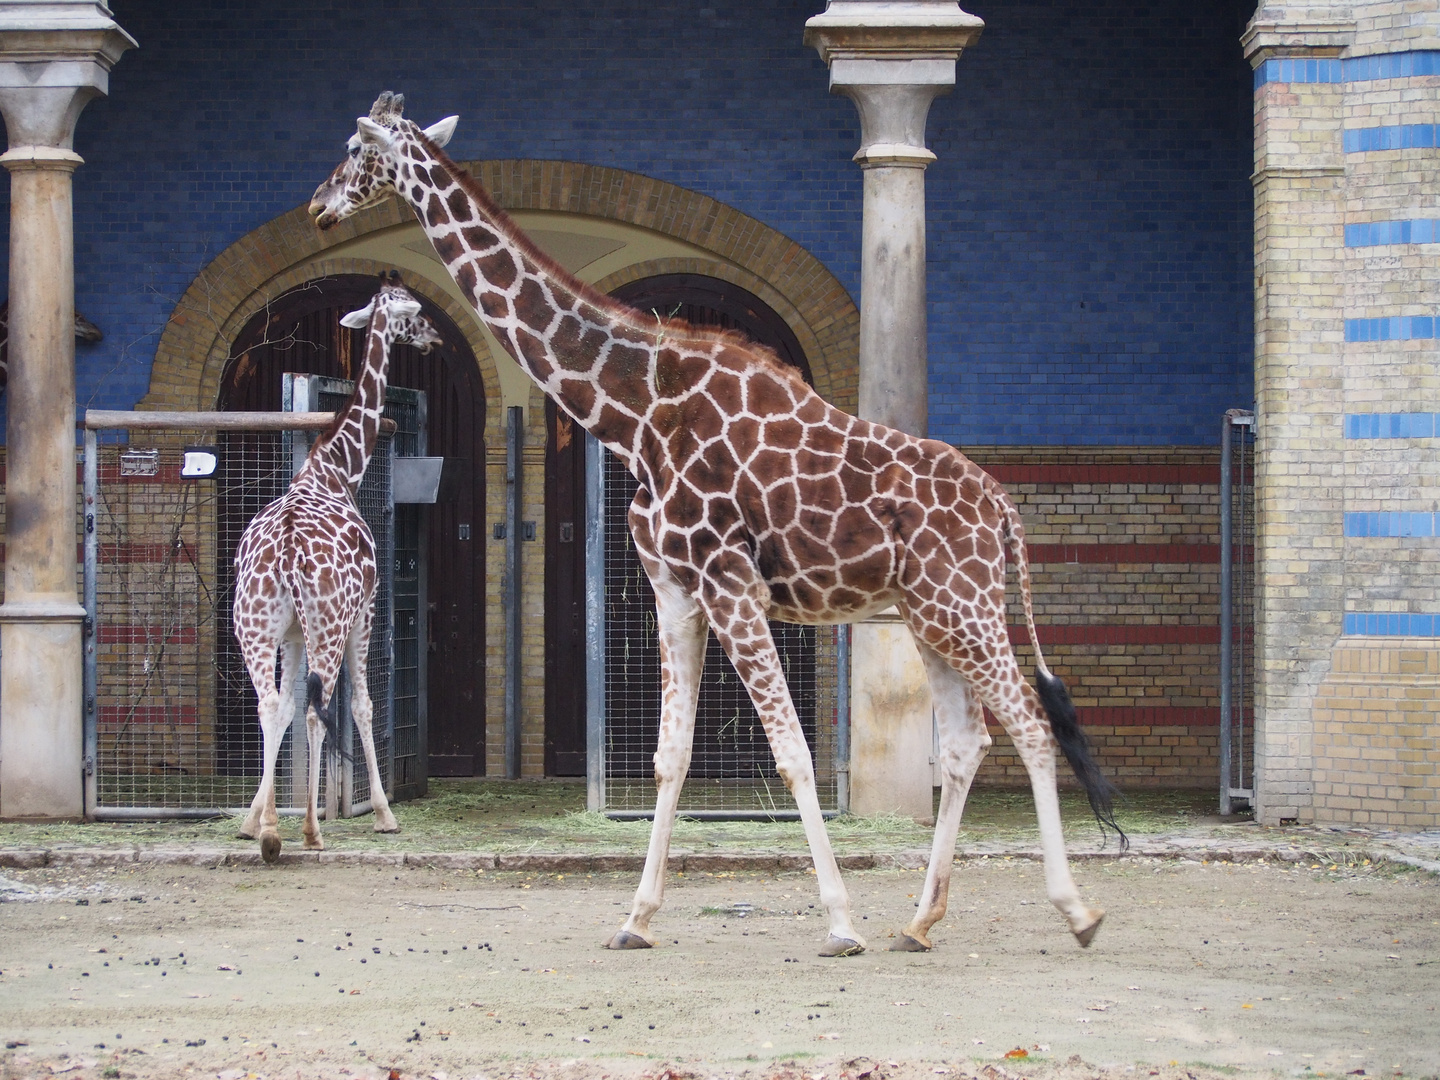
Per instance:
[[[648,816],[655,809],[660,642],[655,596],[626,524],[638,484],[595,439],[586,468],[589,805],[611,816]],[[811,749],[821,808],[845,809],[840,779],[850,721],[848,681],[841,678],[847,628],[772,622],[770,631]],[[694,752],[680,812],[796,815],[744,684],[713,634],[706,644]]]

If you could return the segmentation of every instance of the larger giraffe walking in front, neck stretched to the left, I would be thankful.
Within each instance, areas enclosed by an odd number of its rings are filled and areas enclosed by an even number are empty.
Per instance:
[[[733,661],[795,796],[829,916],[825,956],[861,952],[831,852],[805,737],[768,618],[851,622],[899,605],[935,693],[943,789],[923,901],[899,949],[929,949],[945,914],[960,812],[991,740],[981,706],[1030,772],[1045,884],[1081,945],[1103,913],[1066,863],[1054,743],[1103,824],[1112,788],[1087,752],[1064,684],[1035,648],[1037,696],[1005,626],[1005,552],[1035,641],[1020,514],[991,477],[942,442],[858,420],[742,337],[644,314],[546,258],[441,150],[455,117],[419,128],[382,94],[348,157],[311,200],[315,225],[399,193],[497,340],[639,481],[629,523],[655,588],[661,649],[658,798],[645,871],[612,949],[649,948],[690,765],[706,624]]]

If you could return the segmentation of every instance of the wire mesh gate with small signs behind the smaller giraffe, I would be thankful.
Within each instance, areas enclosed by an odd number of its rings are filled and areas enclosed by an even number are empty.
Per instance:
[[[331,413],[85,416],[85,811],[95,819],[209,816],[249,806],[261,773],[255,696],[236,670],[233,552],[251,517],[289,484],[304,439]],[[357,492],[390,550],[390,425]],[[210,459],[209,469],[196,468]],[[390,560],[382,559],[382,570]],[[370,644],[376,743],[389,744],[389,596]],[[233,655],[232,655],[233,654]],[[304,812],[304,680],[281,747],[276,802]],[[353,742],[341,710],[344,749]],[[297,739],[297,730],[300,737]],[[369,809],[364,756],[328,782],[327,812]],[[333,755],[327,755],[334,760]],[[380,755],[382,776],[389,762]]]

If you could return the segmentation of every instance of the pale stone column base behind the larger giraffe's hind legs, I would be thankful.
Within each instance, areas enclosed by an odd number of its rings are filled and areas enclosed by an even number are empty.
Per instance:
[[[850,641],[850,809],[933,825],[935,721],[914,639],[891,608]]]

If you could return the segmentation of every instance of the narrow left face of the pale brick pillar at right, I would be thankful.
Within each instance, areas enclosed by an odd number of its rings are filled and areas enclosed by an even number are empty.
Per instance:
[[[1266,3],[1250,63],[1316,68],[1351,4]],[[1261,72],[1263,73],[1263,72]],[[1256,815],[1313,819],[1316,688],[1344,618],[1345,86],[1256,89]]]

